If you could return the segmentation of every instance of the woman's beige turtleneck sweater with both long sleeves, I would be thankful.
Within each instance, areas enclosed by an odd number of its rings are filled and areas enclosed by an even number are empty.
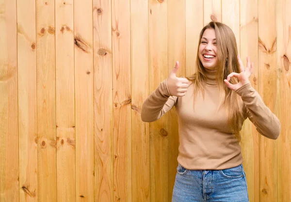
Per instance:
[[[144,122],[154,122],[175,106],[179,127],[178,163],[190,170],[232,168],[242,163],[241,146],[228,126],[226,108],[218,109],[220,93],[215,75],[208,71],[206,77],[205,99],[202,93],[194,98],[194,85],[189,86],[183,97],[171,96],[166,80],[162,81],[144,101],[141,118]],[[249,118],[261,135],[277,139],[280,122],[251,84],[242,86],[236,93],[242,98],[244,120]],[[242,128],[243,122],[239,124]]]

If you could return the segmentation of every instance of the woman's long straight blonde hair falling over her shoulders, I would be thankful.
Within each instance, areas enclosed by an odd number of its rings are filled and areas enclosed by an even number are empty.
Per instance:
[[[238,50],[236,39],[233,31],[225,24],[220,22],[210,22],[200,32],[199,43],[201,42],[202,35],[206,29],[214,29],[216,35],[216,46],[217,46],[217,67],[216,67],[216,82],[218,88],[222,93],[222,105],[226,105],[228,111],[228,124],[233,130],[234,136],[237,140],[241,140],[240,136],[240,122],[243,119],[242,110],[239,106],[239,97],[231,89],[227,88],[224,83],[227,75],[232,72],[240,72],[240,66],[237,60]],[[193,76],[188,79],[194,84],[194,95],[201,91],[204,95],[205,85],[205,69],[202,62],[199,59],[199,46],[196,56],[196,72]],[[237,78],[231,78],[230,83],[238,83]]]

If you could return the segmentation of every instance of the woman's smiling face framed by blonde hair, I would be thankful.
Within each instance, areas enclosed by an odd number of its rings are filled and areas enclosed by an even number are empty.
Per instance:
[[[206,29],[203,32],[199,45],[199,59],[202,65],[209,69],[215,70],[217,66],[217,47],[216,47],[216,34],[212,28]]]

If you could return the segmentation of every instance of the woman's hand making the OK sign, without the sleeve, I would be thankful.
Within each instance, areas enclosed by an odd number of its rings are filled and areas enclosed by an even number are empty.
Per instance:
[[[243,85],[250,83],[248,78],[252,75],[253,69],[254,69],[254,62],[250,62],[249,57],[246,58],[246,68],[245,69],[243,67],[242,60],[241,60],[240,56],[238,56],[238,62],[240,65],[241,73],[232,72],[227,76],[226,79],[224,79],[226,86],[233,91],[236,91],[239,88],[241,88]],[[229,83],[229,80],[232,77],[238,78],[239,82],[237,84]]]

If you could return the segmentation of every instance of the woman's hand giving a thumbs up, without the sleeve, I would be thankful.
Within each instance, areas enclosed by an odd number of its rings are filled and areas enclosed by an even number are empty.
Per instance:
[[[173,96],[182,97],[186,94],[189,87],[189,81],[187,78],[178,78],[177,72],[180,65],[179,62],[176,62],[175,68],[170,72],[167,78],[167,86],[169,93]]]

